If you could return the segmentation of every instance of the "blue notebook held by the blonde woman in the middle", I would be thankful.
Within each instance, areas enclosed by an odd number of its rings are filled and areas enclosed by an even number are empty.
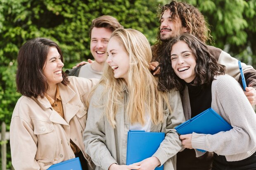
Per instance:
[[[151,157],[164,140],[162,132],[145,132],[142,130],[130,130],[127,139],[126,165],[140,162]],[[164,165],[155,170],[164,170]]]

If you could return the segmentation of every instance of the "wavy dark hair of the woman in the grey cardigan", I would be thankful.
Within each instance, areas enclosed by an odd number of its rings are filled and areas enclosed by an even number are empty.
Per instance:
[[[206,44],[201,42],[194,35],[184,33],[168,42],[163,55],[160,56],[161,71],[158,84],[160,91],[170,91],[173,88],[183,91],[185,88],[185,81],[180,79],[171,67],[171,50],[173,45],[179,41],[184,41],[196,58],[196,66],[194,70],[196,77],[194,78],[192,85],[207,86],[211,84],[214,76],[225,74],[225,66],[217,62],[216,58],[209,52]]]

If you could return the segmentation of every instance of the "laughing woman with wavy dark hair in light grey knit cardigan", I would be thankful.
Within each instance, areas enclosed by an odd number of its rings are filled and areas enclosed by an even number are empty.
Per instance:
[[[174,38],[164,53],[159,88],[181,92],[186,120],[211,107],[232,126],[231,130],[214,135],[180,135],[187,149],[182,151],[185,153],[182,157],[177,156],[177,164],[188,160],[185,164],[190,170],[209,170],[211,164],[213,170],[256,169],[256,114],[238,82],[225,74],[224,66],[193,35]],[[209,152],[194,149],[214,152],[213,159],[210,155],[200,159],[199,156]]]

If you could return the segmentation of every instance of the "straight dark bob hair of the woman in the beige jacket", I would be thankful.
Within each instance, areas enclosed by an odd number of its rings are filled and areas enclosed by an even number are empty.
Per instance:
[[[57,48],[61,61],[62,51],[58,44],[47,38],[35,38],[28,40],[22,45],[17,58],[17,91],[22,95],[43,98],[49,88],[47,79],[43,74],[43,67],[47,60],[50,47]],[[67,85],[69,81],[62,71],[62,84]]]

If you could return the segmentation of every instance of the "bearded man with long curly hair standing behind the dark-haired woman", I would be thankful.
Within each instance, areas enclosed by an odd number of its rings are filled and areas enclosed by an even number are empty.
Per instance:
[[[153,61],[159,61],[167,42],[182,33],[190,33],[202,42],[211,41],[212,37],[204,16],[196,7],[186,2],[171,1],[160,8],[158,15],[160,29],[157,42],[152,46]],[[213,46],[208,46],[208,48],[218,63],[226,66],[227,74],[234,77],[242,85],[237,59],[219,48]],[[153,63],[151,69],[154,70],[156,65],[158,63]],[[245,95],[251,105],[254,106],[256,105],[256,70],[244,63],[242,63],[242,68],[248,86]]]

